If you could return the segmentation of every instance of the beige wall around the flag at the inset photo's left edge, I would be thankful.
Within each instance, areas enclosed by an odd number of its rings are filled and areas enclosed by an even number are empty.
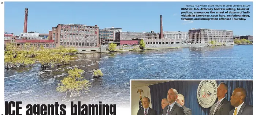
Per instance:
[[[137,115],[139,110],[140,93],[137,93],[138,89],[143,90],[144,93],[141,93],[142,97],[146,96],[151,101],[150,89],[148,86],[131,88],[131,115]],[[149,104],[149,107],[152,108],[151,103]]]

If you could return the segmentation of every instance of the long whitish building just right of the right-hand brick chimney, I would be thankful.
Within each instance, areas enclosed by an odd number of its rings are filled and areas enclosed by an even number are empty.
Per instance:
[[[163,31],[164,38],[168,39],[181,39],[182,42],[188,42],[189,32],[180,31]]]

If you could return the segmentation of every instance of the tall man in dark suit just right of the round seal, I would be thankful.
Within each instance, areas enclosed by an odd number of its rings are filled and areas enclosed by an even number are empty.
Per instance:
[[[229,111],[234,107],[225,98],[228,90],[228,86],[225,83],[220,83],[217,88],[218,102],[213,104],[209,115],[228,115]]]

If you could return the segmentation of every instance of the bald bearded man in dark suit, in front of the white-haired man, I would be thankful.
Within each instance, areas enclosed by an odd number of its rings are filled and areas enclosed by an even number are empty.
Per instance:
[[[167,99],[169,105],[164,108],[163,115],[185,115],[183,107],[179,105],[176,100],[178,92],[176,89],[169,89]]]

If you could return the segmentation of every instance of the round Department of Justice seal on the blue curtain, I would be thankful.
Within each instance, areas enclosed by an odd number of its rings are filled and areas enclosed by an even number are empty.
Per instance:
[[[203,108],[211,107],[217,99],[217,83],[216,81],[201,81],[197,88],[197,100]]]

